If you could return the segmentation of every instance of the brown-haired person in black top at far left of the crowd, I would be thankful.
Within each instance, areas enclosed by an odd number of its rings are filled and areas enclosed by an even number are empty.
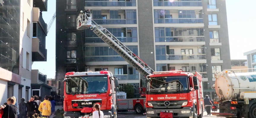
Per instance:
[[[17,106],[15,106],[16,98],[10,97],[7,99],[7,106],[4,107],[4,114],[2,118],[18,118]]]

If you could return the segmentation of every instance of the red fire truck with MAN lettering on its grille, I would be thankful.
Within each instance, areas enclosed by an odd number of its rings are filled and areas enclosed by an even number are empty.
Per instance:
[[[92,106],[100,104],[104,118],[116,118],[118,80],[109,71],[68,72],[64,82],[64,118],[92,117]],[[60,81],[57,82],[60,89]],[[57,91],[60,93],[60,90]]]

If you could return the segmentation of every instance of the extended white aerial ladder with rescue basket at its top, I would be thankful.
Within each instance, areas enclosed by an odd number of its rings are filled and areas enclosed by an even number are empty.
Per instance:
[[[154,71],[135,55],[127,46],[119,41],[114,35],[111,34],[106,28],[98,25],[92,20],[92,14],[80,13],[76,18],[77,30],[85,30],[90,28],[98,37],[106,42],[113,50],[115,50],[121,57],[123,57],[132,67],[139,71],[143,76],[152,74]]]

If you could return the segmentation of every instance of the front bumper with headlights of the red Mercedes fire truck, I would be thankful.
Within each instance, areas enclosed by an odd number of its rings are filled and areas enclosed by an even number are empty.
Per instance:
[[[172,111],[173,117],[192,117],[192,109],[190,107],[184,107],[183,109],[146,109],[147,117],[159,117],[162,111]]]

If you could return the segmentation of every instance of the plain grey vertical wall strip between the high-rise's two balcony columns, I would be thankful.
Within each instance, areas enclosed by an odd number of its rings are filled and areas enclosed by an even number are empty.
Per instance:
[[[140,58],[155,70],[152,1],[138,0],[137,3]]]

